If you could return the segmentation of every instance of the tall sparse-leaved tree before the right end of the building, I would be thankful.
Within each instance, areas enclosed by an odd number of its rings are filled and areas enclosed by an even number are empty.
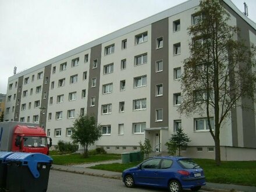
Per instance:
[[[220,129],[241,98],[254,101],[254,47],[238,41],[239,30],[229,26],[230,15],[219,0],[202,0],[189,27],[190,56],[184,60],[182,105],[179,111],[207,116],[215,142],[216,165],[221,164]],[[197,23],[198,22],[198,23]],[[212,123],[214,118],[214,123]]]

